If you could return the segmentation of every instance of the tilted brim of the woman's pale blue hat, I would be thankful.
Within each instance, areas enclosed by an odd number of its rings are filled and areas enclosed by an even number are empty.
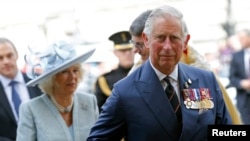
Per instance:
[[[58,67],[55,67],[54,69],[39,75],[38,77],[36,77],[33,80],[30,80],[29,82],[26,83],[27,86],[35,86],[37,85],[39,82],[47,79],[50,76],[53,76],[55,74],[57,74],[60,71],[65,70],[66,68],[77,64],[77,63],[82,63],[84,61],[86,61],[90,56],[92,56],[92,54],[95,52],[95,48],[92,48],[88,51],[86,51],[83,54],[77,55],[76,57],[64,62],[63,64],[59,65]]]

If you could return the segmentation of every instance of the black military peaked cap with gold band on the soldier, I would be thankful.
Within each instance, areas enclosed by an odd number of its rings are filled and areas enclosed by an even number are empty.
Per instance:
[[[129,31],[116,32],[109,37],[109,40],[114,42],[116,50],[133,48],[133,45],[130,43],[131,35]]]

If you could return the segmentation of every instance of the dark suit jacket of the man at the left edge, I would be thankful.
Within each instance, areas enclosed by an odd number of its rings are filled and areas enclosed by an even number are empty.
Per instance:
[[[25,82],[30,79],[23,74]],[[41,90],[36,87],[28,87],[30,98],[34,98],[42,94]],[[10,104],[5,94],[2,83],[0,82],[0,141],[16,140],[17,123],[12,113]]]

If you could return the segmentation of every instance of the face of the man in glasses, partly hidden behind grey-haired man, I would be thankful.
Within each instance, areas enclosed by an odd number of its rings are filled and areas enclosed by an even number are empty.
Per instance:
[[[149,56],[149,49],[144,45],[143,38],[132,36],[131,42],[134,45],[134,53],[138,53],[143,62],[146,61]]]

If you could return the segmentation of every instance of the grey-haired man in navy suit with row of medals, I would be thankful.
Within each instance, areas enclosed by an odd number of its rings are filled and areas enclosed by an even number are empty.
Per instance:
[[[87,141],[201,141],[232,124],[212,71],[180,62],[190,35],[174,7],[154,9],[142,37],[149,59],[115,83]]]

